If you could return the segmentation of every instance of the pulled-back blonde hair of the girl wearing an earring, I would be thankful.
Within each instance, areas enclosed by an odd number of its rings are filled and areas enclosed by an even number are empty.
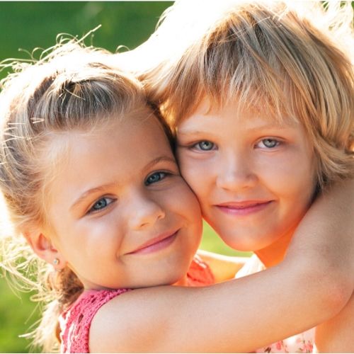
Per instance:
[[[48,222],[46,188],[59,161],[58,154],[48,153],[51,139],[68,130],[85,132],[138,115],[155,115],[169,133],[139,81],[113,67],[111,57],[71,40],[37,62],[12,63],[15,72],[1,81],[0,189],[19,237],[3,237],[0,264],[20,278],[21,290],[35,290],[35,299],[47,304],[33,333],[35,345],[45,352],[58,350],[57,316],[83,290],[71,270],[55,273],[21,237],[33,222]]]

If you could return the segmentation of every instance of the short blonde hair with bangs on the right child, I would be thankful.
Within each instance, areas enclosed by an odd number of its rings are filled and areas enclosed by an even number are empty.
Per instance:
[[[204,98],[299,120],[324,187],[353,176],[353,8],[341,3],[176,1],[135,50],[166,54],[135,71],[173,128]]]

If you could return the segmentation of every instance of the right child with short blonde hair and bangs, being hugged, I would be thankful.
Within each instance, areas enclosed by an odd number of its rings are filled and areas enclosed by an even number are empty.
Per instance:
[[[141,77],[176,132],[181,173],[203,217],[229,246],[256,253],[242,276],[278,264],[316,195],[353,178],[353,8],[192,4],[198,11],[176,1],[127,55],[166,50],[142,63]],[[353,305],[319,327],[319,350],[354,352]],[[258,351],[307,352],[313,343],[314,331]]]

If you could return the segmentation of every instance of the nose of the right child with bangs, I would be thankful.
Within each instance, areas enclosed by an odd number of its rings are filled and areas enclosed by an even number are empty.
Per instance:
[[[231,152],[220,159],[217,187],[224,190],[242,190],[256,184],[256,172],[250,156]]]

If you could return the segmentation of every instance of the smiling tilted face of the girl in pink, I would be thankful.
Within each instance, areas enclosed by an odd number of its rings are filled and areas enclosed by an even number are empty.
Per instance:
[[[65,139],[47,210],[61,262],[90,289],[183,278],[200,244],[200,207],[156,118],[117,119]]]

